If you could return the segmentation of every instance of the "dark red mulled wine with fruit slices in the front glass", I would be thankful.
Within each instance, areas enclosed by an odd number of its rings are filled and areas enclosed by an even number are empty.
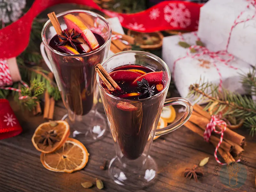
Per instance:
[[[164,89],[164,72],[153,71],[144,66],[124,65],[110,71],[109,75],[120,86],[121,91],[111,92],[103,82],[102,87],[112,95],[124,99],[108,103],[108,117],[113,123],[110,130],[124,156],[137,159],[143,153],[149,134],[155,126],[162,97],[148,100],[144,105],[139,100],[153,97]],[[109,102],[106,100],[103,102]]]

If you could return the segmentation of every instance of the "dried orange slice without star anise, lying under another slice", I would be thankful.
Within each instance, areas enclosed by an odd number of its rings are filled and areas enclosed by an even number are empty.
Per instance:
[[[54,172],[72,173],[83,169],[87,164],[89,153],[84,145],[73,138],[68,138],[64,145],[53,153],[42,153],[41,163]]]

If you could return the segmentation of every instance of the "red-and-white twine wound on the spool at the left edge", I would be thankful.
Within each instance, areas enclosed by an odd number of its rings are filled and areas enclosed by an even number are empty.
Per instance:
[[[22,80],[20,81],[20,83],[28,88],[28,85],[24,83]],[[4,86],[10,86],[12,84],[13,84],[13,81],[12,81],[10,70],[7,64],[7,60],[0,59],[0,89],[21,92],[20,89],[16,89],[13,87],[4,87]],[[28,98],[28,96],[19,97],[20,100],[26,99],[26,98]]]

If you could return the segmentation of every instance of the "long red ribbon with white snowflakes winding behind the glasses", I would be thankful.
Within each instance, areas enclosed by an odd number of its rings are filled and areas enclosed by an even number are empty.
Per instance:
[[[92,0],[35,0],[31,8],[19,20],[0,30],[0,58],[17,57],[28,46],[33,19],[46,8],[60,3],[83,4],[104,12],[110,17],[117,16],[123,27],[140,32],[161,30],[197,29],[201,4],[184,1],[164,1],[148,10],[119,14],[100,8]]]

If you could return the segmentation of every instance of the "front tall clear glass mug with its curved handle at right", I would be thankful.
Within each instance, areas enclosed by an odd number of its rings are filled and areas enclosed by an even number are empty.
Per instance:
[[[165,100],[171,74],[159,57],[148,52],[126,51],[117,53],[102,63],[108,72],[124,65],[138,65],[164,72],[164,89],[152,97],[139,100],[113,96],[102,87],[97,74],[101,100],[116,149],[116,157],[111,160],[108,168],[109,175],[117,184],[143,188],[154,180],[157,173],[156,162],[148,155],[154,136],[178,129],[190,117],[192,106],[182,98]],[[186,112],[175,123],[156,131],[162,108],[169,105],[182,105]]]

